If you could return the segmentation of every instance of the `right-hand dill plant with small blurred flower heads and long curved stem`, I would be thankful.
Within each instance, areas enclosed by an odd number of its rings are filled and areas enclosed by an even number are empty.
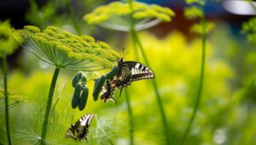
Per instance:
[[[204,13],[204,6],[206,4],[205,0],[186,0],[186,3],[189,4],[190,6],[187,8],[184,8],[185,18],[189,20],[200,20],[199,23],[195,23],[194,25],[191,26],[190,31],[201,35],[201,42],[202,42],[201,70],[200,70],[199,86],[195,96],[195,106],[193,109],[193,113],[191,114],[191,117],[189,119],[188,126],[186,127],[183,133],[183,136],[179,142],[180,145],[184,144],[184,142],[186,141],[186,138],[189,135],[191,125],[195,120],[195,116],[201,102],[201,93],[203,89],[203,82],[204,82],[204,75],[205,75],[207,33],[212,31],[214,27],[214,24],[212,22],[207,22],[205,18],[206,17]]]

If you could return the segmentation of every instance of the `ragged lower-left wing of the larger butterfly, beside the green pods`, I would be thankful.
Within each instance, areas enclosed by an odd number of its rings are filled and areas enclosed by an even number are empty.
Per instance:
[[[112,84],[113,81],[106,80],[102,86],[101,90],[101,99],[106,103],[109,100],[116,103],[115,99],[113,98],[113,94],[115,92],[115,85]]]

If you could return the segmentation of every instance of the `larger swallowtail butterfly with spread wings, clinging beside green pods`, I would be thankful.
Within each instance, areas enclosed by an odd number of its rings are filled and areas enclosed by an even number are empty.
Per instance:
[[[124,61],[123,59],[119,59],[118,67],[119,73],[115,75],[113,79],[106,80],[102,86],[101,98],[104,102],[112,100],[115,103],[115,100],[113,99],[115,88],[119,89],[119,96],[121,96],[123,88],[130,86],[131,81],[154,78],[153,70],[139,62]]]

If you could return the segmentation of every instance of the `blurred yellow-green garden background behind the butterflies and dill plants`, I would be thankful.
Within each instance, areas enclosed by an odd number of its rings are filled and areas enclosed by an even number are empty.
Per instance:
[[[184,20],[184,3],[179,1],[143,1],[170,7],[176,13],[172,23],[154,26],[139,32],[150,67],[160,89],[161,99],[171,133],[172,144],[183,135],[195,103],[201,64],[201,38],[189,33],[193,22]],[[56,0],[0,2],[0,19],[9,19],[15,29],[37,25],[44,29],[55,25],[74,34],[96,37],[108,42],[125,60],[136,60],[133,45],[125,32],[110,31],[87,25],[82,17],[94,8],[110,3],[105,0]],[[241,34],[241,24],[248,15],[230,14],[221,3],[206,6],[207,19],[215,29],[207,36],[206,74],[200,109],[185,144],[191,145],[253,145],[256,142],[256,49]],[[1,46],[0,46],[1,47]],[[137,60],[142,61],[142,60]],[[44,109],[54,68],[44,64],[23,48],[9,56],[9,89],[27,98],[10,111],[10,127],[14,144],[38,143]],[[1,67],[2,69],[2,67]],[[100,76],[108,70],[91,73]],[[2,70],[1,70],[2,73]],[[86,113],[95,114],[90,125],[87,144],[129,144],[129,116],[125,97],[117,104],[93,101],[93,79],[88,81],[90,97],[83,111],[71,108],[76,72],[61,70],[54,103],[58,100],[49,123],[49,144],[85,144],[65,138],[71,123]],[[1,77],[1,87],[3,78]],[[164,129],[149,81],[136,81],[125,88],[131,96],[135,144],[162,144]],[[1,98],[2,99],[2,98]],[[3,107],[3,101],[0,103]],[[6,144],[4,111],[0,111],[0,144]]]

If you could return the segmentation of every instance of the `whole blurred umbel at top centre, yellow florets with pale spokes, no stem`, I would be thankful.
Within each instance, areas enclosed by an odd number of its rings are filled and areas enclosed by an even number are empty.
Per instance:
[[[131,8],[132,7],[132,8]],[[156,4],[133,2],[132,6],[125,2],[113,2],[94,9],[85,14],[83,20],[90,25],[101,25],[116,31],[129,31],[131,17],[137,31],[147,29],[160,22],[169,22],[174,16],[170,8]]]

